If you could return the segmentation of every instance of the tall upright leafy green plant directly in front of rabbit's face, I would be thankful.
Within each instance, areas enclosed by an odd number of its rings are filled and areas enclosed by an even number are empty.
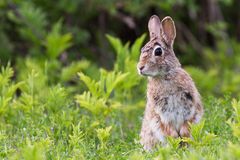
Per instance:
[[[136,41],[130,47],[129,43],[123,45],[120,39],[107,35],[110,44],[113,46],[113,49],[116,52],[116,63],[114,65],[114,70],[123,73],[131,73],[127,77],[128,82],[123,83],[121,87],[118,88],[118,93],[120,93],[120,95],[116,96],[118,96],[119,98],[127,97],[128,101],[131,101],[133,99],[141,101],[141,99],[139,99],[139,96],[135,97],[134,95],[139,94],[144,96],[143,93],[145,93],[145,83],[141,76],[138,75],[136,67],[140,54],[140,49],[145,37],[146,34],[143,34],[138,39],[136,39]],[[136,87],[137,85],[139,89],[135,90],[134,87]],[[142,87],[140,88],[139,86]],[[135,90],[134,93],[133,90]],[[125,99],[126,98],[122,98],[122,101],[124,101]]]

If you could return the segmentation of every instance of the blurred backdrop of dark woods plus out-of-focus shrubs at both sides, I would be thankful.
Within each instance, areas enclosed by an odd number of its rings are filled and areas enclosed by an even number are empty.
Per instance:
[[[186,69],[200,88],[239,95],[239,8],[238,0],[0,0],[1,64],[88,60],[111,69],[116,55],[106,34],[131,44],[147,33],[151,15],[169,15],[177,28],[175,53],[184,67],[195,66]]]

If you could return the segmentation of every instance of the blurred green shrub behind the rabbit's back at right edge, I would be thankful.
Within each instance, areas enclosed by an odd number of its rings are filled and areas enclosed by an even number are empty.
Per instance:
[[[204,94],[223,95],[231,93],[233,96],[239,95],[240,75],[237,73],[240,67],[238,51],[240,45],[234,40],[228,43],[219,41],[216,50],[204,49],[206,70],[186,67]]]

